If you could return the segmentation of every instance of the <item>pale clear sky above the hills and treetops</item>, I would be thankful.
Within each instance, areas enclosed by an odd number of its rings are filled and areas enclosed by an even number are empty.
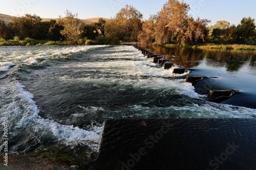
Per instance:
[[[157,14],[167,0],[0,0],[0,13],[23,16],[36,14],[41,18],[65,16],[65,11],[78,13],[78,18],[111,18],[126,4],[134,6],[148,19]],[[180,0],[181,2],[181,0]],[[238,25],[243,17],[256,19],[255,0],[184,0],[190,6],[189,14],[211,20],[214,25],[218,20],[226,20],[231,25]]]

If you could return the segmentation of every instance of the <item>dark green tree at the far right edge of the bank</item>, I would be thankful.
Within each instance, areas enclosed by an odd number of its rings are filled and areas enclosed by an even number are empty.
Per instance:
[[[241,23],[237,26],[237,42],[238,43],[247,43],[253,44],[255,43],[255,19],[251,17],[244,17],[241,20]]]

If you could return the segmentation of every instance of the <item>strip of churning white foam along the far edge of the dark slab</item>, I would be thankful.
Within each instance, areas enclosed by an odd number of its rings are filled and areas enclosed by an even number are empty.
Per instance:
[[[131,106],[132,117],[145,118],[255,118],[256,109],[216,103],[187,104],[186,106],[145,107]]]

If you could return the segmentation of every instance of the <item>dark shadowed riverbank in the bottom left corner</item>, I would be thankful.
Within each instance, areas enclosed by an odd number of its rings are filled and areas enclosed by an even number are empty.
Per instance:
[[[70,170],[87,169],[86,162],[96,158],[97,153],[86,145],[69,147],[63,144],[53,145],[49,148],[22,155],[8,155],[4,161],[0,154],[0,169],[6,170]],[[7,166],[8,165],[8,166]]]

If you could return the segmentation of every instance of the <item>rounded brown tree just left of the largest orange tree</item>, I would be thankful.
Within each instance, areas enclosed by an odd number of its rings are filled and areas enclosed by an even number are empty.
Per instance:
[[[137,41],[142,29],[143,15],[133,6],[126,5],[114,18],[105,23],[105,33],[108,37],[118,37],[120,40]]]

